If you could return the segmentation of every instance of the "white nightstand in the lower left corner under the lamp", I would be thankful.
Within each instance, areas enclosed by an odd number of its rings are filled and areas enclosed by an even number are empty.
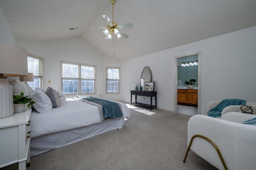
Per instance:
[[[0,119],[0,168],[18,163],[19,170],[26,170],[29,165],[31,111]]]

